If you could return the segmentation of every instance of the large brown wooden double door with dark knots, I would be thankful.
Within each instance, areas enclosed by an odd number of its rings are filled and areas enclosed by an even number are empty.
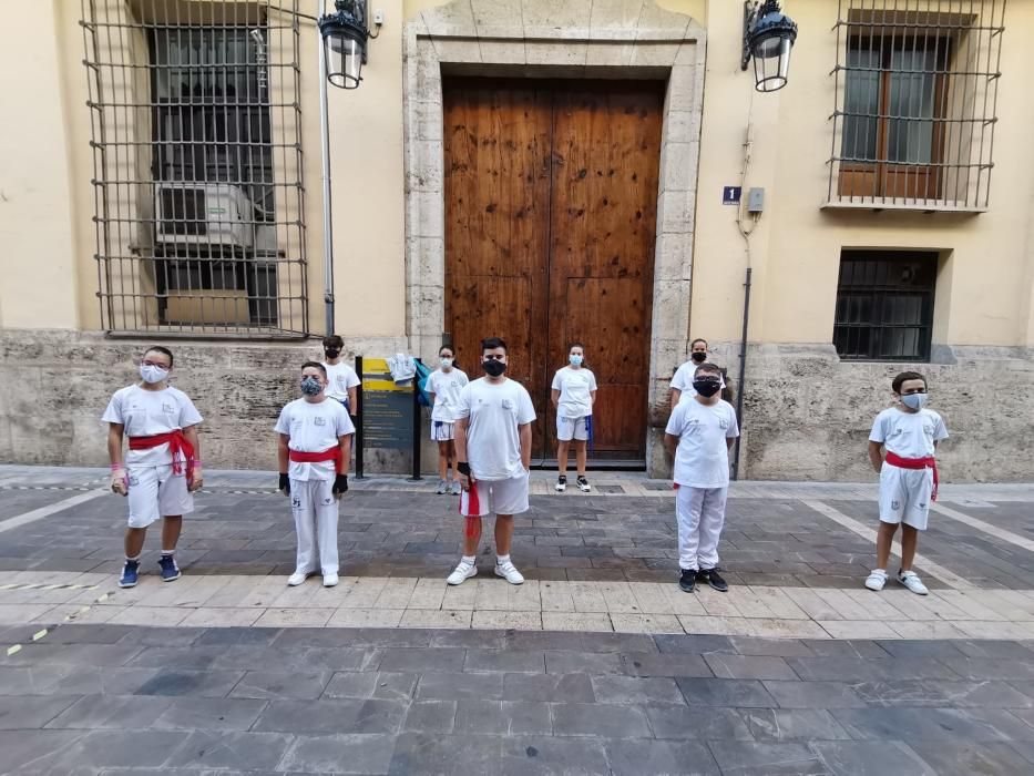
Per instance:
[[[500,336],[552,458],[572,343],[598,384],[594,456],[645,458],[663,84],[447,80],[446,331],[471,378]]]

